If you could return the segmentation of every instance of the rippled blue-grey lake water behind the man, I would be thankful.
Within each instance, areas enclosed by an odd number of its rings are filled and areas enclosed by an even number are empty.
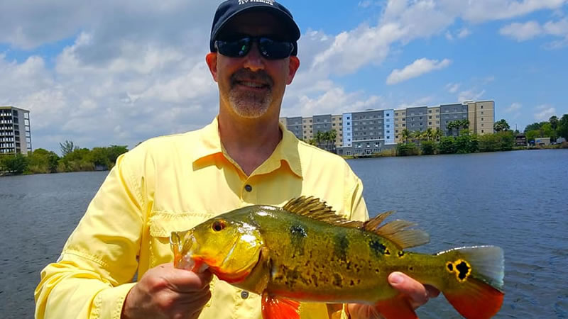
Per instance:
[[[371,216],[395,210],[430,233],[414,249],[505,250],[497,318],[568,318],[568,150],[349,161]],[[33,318],[40,270],[55,261],[107,172],[0,178],[0,318]],[[420,318],[460,318],[443,296]]]

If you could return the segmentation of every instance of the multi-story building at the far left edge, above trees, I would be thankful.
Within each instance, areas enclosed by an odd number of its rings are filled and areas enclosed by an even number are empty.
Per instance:
[[[30,111],[0,106],[0,154],[31,152]]]

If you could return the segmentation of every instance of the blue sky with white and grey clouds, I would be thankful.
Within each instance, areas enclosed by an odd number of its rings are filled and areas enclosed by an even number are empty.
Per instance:
[[[0,3],[0,105],[33,147],[129,145],[217,113],[208,0]],[[568,0],[282,1],[302,30],[283,116],[496,102],[523,130],[568,113]]]

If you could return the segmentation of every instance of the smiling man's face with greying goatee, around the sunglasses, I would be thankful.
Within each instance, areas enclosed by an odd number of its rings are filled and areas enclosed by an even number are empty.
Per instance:
[[[274,38],[284,31],[268,13],[244,13],[231,21],[223,34],[229,38],[238,35]],[[297,57],[267,60],[258,51],[258,43],[253,43],[244,57],[210,53],[207,64],[219,84],[222,106],[242,118],[260,118],[280,111],[285,86],[292,82],[300,62]]]

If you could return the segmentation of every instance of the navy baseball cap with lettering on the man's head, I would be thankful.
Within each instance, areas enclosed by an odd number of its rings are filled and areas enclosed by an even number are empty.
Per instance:
[[[292,55],[297,55],[297,40],[300,39],[300,28],[294,22],[292,13],[273,0],[227,0],[219,4],[219,8],[217,8],[213,18],[213,26],[211,27],[211,39],[209,40],[211,52],[217,52],[215,50],[215,40],[218,40],[217,37],[232,18],[240,13],[253,11],[272,13],[278,18],[283,23],[286,33],[288,33],[288,40],[294,43]]]

